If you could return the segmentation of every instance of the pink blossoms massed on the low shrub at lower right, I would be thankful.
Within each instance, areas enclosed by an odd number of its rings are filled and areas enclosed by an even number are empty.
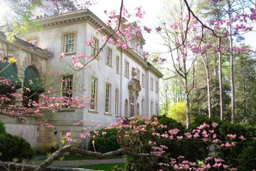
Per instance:
[[[162,142],[169,140],[186,141],[195,140],[206,143],[213,143],[220,145],[220,148],[231,148],[237,142],[246,140],[243,136],[237,136],[235,134],[228,134],[227,141],[222,142],[218,139],[215,128],[218,127],[218,123],[203,123],[201,126],[193,129],[191,132],[182,134],[178,128],[169,129],[167,126],[159,123],[156,117],[132,117],[118,118],[115,123],[112,123],[107,129],[117,129],[117,140],[123,147],[130,147],[133,150],[140,150],[144,146],[150,146],[151,151],[149,154],[155,156],[162,156],[166,153],[168,146],[163,145]],[[236,140],[236,141],[234,141]],[[137,144],[137,145],[134,145]],[[220,158],[208,157],[202,163],[189,162],[183,160],[183,157],[173,159],[170,158],[169,162],[159,162],[159,166],[173,167],[175,170],[210,170],[213,168],[225,170],[236,170],[229,165],[225,165],[225,161]]]

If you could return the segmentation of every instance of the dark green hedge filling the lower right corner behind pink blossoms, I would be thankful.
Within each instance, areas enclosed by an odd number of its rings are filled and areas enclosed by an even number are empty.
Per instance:
[[[255,169],[255,160],[256,160],[256,126],[248,126],[241,123],[231,124],[228,122],[220,121],[218,118],[203,118],[198,117],[189,127],[190,131],[196,126],[201,125],[202,123],[213,123],[216,122],[219,124],[215,128],[215,133],[218,134],[218,138],[225,142],[228,140],[228,134],[235,134],[236,140],[239,136],[244,136],[245,141],[238,140],[240,143],[236,143],[235,147],[231,148],[218,148],[215,155],[218,158],[225,160],[228,165],[232,165],[241,171],[253,170]],[[198,153],[198,152],[196,152]]]

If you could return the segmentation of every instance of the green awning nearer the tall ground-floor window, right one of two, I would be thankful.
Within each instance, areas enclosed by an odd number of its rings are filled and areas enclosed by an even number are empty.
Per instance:
[[[38,78],[33,67],[27,67],[25,71],[24,87],[37,92],[38,94],[46,92]]]

